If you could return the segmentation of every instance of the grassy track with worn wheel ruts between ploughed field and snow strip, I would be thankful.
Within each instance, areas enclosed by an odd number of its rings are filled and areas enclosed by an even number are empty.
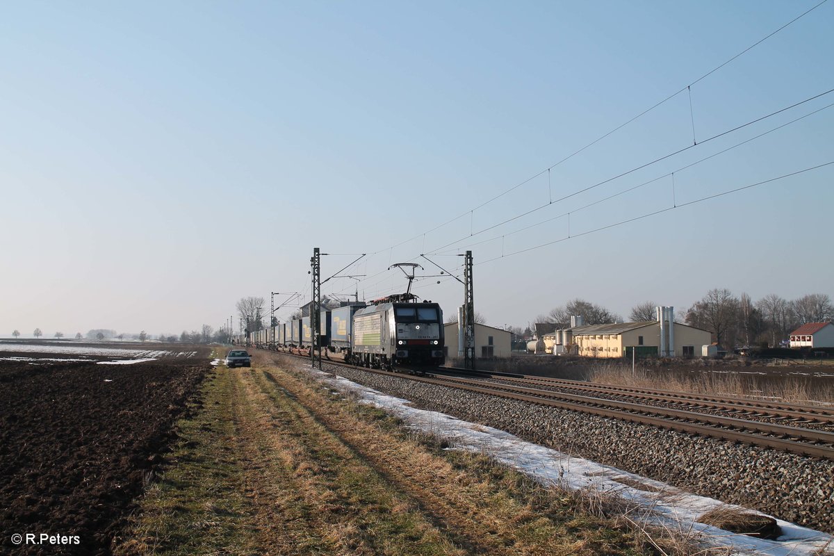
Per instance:
[[[266,360],[218,368],[182,436],[117,553],[628,552],[515,496],[517,476],[455,465]]]

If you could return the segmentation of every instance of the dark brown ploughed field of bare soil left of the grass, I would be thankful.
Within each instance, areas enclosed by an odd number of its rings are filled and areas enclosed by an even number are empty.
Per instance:
[[[200,358],[132,365],[0,361],[0,552],[111,553],[132,499],[176,436],[174,420],[210,368],[207,356],[203,349]],[[15,546],[13,533],[78,535],[80,544]]]

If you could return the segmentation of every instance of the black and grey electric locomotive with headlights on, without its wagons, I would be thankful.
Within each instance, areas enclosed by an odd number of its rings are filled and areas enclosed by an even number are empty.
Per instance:
[[[394,369],[445,360],[439,303],[408,303],[409,294],[377,299],[354,314],[349,363]]]

